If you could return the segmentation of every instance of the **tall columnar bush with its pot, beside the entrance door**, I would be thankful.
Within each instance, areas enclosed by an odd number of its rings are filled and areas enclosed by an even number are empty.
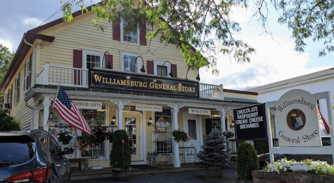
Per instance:
[[[116,130],[112,139],[110,166],[114,180],[129,180],[131,176],[131,152],[128,134],[123,129]]]

